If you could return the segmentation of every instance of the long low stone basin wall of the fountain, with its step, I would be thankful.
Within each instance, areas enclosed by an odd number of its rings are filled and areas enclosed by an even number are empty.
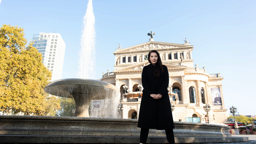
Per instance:
[[[136,119],[0,116],[0,143],[139,143]],[[228,126],[174,122],[176,143],[249,141],[231,137]],[[150,129],[147,143],[167,143],[165,132]]]

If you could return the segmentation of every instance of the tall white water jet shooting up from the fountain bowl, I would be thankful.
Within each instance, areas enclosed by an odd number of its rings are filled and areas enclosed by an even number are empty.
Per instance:
[[[95,17],[93,14],[92,0],[87,4],[84,16],[84,25],[81,38],[81,51],[79,53],[79,78],[93,79],[95,66]]]

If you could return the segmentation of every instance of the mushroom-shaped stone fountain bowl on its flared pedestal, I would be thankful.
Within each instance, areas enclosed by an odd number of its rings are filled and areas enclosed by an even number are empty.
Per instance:
[[[77,78],[53,81],[44,87],[44,91],[55,96],[73,98],[76,103],[76,117],[90,117],[88,109],[92,100],[111,99],[115,96],[118,98],[120,95],[119,90],[113,84]],[[112,107],[114,108],[112,111],[108,111],[109,113],[117,112],[118,100],[113,102]]]

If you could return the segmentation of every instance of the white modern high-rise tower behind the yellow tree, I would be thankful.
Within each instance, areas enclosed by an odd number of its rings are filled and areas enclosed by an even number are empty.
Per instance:
[[[60,34],[39,33],[33,35],[33,46],[42,53],[43,63],[52,72],[52,80],[61,79],[66,44]]]

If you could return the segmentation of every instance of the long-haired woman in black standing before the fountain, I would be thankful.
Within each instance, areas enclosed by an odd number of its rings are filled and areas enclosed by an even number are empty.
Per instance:
[[[153,50],[148,53],[149,65],[142,70],[143,97],[140,103],[138,127],[140,144],[145,144],[149,129],[165,130],[167,140],[174,144],[173,118],[168,96],[169,73],[162,65],[160,55]]]

